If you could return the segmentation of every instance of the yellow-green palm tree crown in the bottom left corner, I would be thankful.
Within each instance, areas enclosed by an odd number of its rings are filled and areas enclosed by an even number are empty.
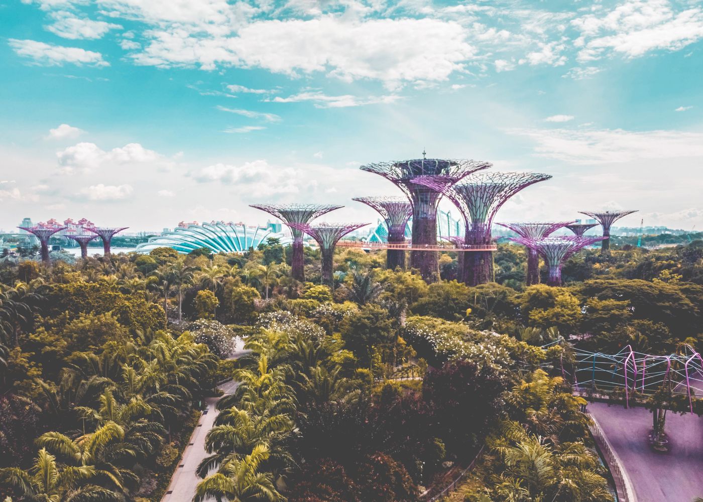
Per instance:
[[[42,448],[30,470],[16,467],[0,469],[0,481],[20,490],[29,502],[117,502],[114,491],[86,484],[95,477],[91,466],[64,466]]]

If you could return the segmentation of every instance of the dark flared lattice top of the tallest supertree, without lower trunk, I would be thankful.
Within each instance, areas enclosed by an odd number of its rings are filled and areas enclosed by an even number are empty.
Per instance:
[[[413,205],[414,218],[434,218],[441,195],[432,187],[415,184],[418,176],[444,176],[456,182],[491,166],[490,162],[466,159],[414,159],[375,162],[361,166],[361,170],[383,176],[400,188]]]

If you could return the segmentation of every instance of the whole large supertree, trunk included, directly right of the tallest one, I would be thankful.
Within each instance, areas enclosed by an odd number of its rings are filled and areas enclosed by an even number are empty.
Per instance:
[[[458,207],[466,227],[464,243],[469,246],[491,245],[491,225],[496,212],[523,188],[552,176],[534,172],[478,172],[449,184],[443,176],[420,176],[418,184],[443,193]],[[468,251],[464,257],[460,281],[468,285],[483,284],[493,279],[493,251]]]

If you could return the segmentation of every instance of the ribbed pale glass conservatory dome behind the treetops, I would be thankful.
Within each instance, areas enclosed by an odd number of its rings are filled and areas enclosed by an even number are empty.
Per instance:
[[[246,226],[242,223],[211,221],[179,224],[172,231],[149,238],[148,242],[136,247],[137,252],[150,252],[156,247],[173,247],[180,253],[207,247],[212,252],[245,252],[250,247],[256,249],[268,238],[278,238],[281,244],[290,243],[290,237],[261,226]]]

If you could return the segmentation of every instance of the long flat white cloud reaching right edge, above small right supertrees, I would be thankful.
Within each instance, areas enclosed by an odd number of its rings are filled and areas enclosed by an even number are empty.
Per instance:
[[[538,156],[579,165],[703,156],[703,133],[623,129],[512,129],[509,132],[532,139]]]

